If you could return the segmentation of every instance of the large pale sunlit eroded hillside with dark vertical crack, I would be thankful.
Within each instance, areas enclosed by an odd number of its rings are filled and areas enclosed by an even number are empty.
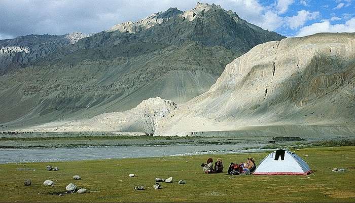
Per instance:
[[[229,63],[209,91],[163,118],[155,134],[354,124],[354,78],[355,33],[267,42]]]

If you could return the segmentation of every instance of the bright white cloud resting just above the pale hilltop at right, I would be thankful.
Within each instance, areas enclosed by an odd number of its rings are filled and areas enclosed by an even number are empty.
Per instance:
[[[317,32],[355,32],[355,17],[347,20],[344,24],[331,24],[326,20],[320,23],[313,23],[302,27],[297,33],[297,37],[313,35]]]

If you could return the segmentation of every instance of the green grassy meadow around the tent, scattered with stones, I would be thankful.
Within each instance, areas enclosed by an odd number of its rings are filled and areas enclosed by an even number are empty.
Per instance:
[[[0,201],[354,201],[355,147],[306,148],[296,153],[312,164],[315,176],[235,176],[230,179],[226,173],[203,174],[200,167],[209,156],[221,157],[227,167],[230,162],[242,162],[247,157],[259,162],[268,152],[0,164]],[[60,171],[46,171],[48,164],[58,166]],[[347,171],[332,172],[333,167]],[[129,178],[130,173],[136,177]],[[73,180],[74,175],[83,179]],[[170,176],[174,181],[184,179],[187,184],[162,183],[162,189],[152,188],[154,178]],[[25,179],[31,179],[33,185],[24,186]],[[56,185],[42,185],[45,180],[54,180]],[[90,193],[58,196],[68,183],[75,183]],[[135,191],[136,185],[148,189]]]

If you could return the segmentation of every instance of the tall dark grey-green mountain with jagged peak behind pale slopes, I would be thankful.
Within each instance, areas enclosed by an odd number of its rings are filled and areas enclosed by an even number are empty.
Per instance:
[[[184,104],[207,91],[234,58],[285,38],[208,4],[66,36],[0,41],[4,50],[19,47],[0,57],[0,123],[92,118],[156,96]]]

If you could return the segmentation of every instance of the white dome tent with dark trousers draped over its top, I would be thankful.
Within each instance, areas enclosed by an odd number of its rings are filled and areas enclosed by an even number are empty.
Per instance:
[[[279,149],[266,156],[253,175],[308,175],[308,164],[297,154]]]

